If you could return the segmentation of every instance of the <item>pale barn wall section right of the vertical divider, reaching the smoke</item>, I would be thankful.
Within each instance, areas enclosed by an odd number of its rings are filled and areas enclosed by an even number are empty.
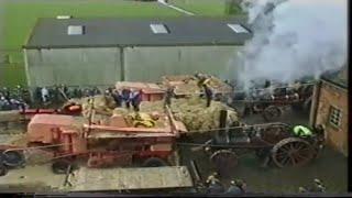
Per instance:
[[[234,78],[230,66],[241,46],[164,46],[124,48],[125,80],[155,81],[164,75],[208,73]]]

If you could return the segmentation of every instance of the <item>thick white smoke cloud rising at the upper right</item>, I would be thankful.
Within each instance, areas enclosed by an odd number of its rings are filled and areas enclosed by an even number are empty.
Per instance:
[[[346,62],[346,0],[244,0],[243,7],[254,34],[235,63],[245,87],[258,78],[317,78]]]

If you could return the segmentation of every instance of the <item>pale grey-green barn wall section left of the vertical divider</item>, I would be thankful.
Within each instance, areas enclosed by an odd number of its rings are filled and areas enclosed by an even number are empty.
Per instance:
[[[29,85],[110,85],[120,80],[120,48],[26,50]]]

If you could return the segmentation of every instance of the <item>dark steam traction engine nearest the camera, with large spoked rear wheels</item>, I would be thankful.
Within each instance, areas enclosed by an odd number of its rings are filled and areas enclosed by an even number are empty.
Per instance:
[[[226,111],[220,117],[223,120]],[[298,138],[293,134],[290,125],[280,122],[235,127],[220,123],[221,130],[209,131],[212,138],[206,143],[178,144],[204,148],[222,176],[235,168],[242,154],[251,152],[262,160],[267,157],[277,167],[301,166],[316,158],[324,143],[324,135],[318,130],[312,130],[312,138]]]

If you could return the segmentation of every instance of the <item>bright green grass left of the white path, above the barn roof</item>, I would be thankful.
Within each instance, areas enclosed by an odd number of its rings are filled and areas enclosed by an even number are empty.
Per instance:
[[[38,18],[55,18],[56,15],[74,15],[75,18],[182,15],[177,11],[156,3],[134,1],[6,1],[3,9],[6,22],[3,37],[6,40],[2,48],[19,48],[23,45]]]

